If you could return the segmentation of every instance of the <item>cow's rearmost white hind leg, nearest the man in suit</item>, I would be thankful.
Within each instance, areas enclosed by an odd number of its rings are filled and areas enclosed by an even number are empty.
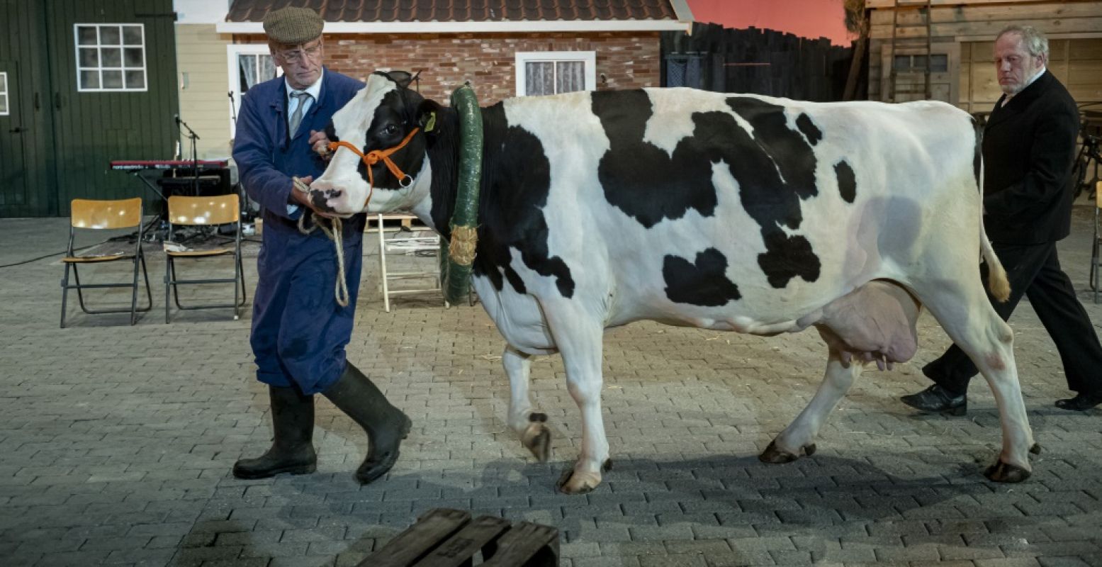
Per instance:
[[[941,323],[949,338],[975,363],[995,394],[1003,428],[998,461],[987,469],[996,482],[1020,482],[1029,478],[1029,452],[1037,452],[1033,430],[1022,399],[1018,371],[1014,363],[1014,332],[998,313],[979,282],[940,280],[926,291],[912,288],[919,300]]]

